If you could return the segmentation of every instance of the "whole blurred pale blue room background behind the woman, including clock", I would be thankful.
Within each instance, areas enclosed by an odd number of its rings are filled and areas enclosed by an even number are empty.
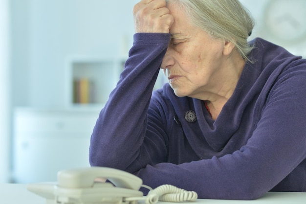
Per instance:
[[[0,182],[56,181],[61,169],[89,166],[92,128],[132,44],[136,2],[0,0]],[[256,21],[250,40],[306,56],[306,1],[241,2]]]

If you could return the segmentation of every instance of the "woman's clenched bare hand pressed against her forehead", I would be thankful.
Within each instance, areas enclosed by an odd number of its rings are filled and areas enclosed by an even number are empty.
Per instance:
[[[141,0],[133,15],[136,33],[169,33],[174,22],[165,0]]]

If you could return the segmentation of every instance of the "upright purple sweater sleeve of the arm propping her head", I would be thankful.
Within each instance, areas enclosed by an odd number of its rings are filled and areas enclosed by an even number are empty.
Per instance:
[[[142,167],[137,163],[137,157],[144,157],[141,153],[146,151],[143,141],[147,132],[148,107],[169,40],[170,34],[134,35],[125,69],[101,110],[90,139],[91,166],[107,166],[129,172]],[[164,142],[162,137],[159,142]],[[150,141],[147,143],[150,144]],[[162,148],[165,145],[157,146]],[[158,152],[165,155],[165,151],[163,148]]]

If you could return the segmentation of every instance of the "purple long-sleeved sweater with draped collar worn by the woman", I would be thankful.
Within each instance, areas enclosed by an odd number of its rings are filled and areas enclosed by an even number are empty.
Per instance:
[[[306,60],[255,39],[216,121],[203,101],[153,86],[169,34],[134,35],[129,59],[91,136],[92,166],[122,169],[153,188],[199,198],[257,199],[306,191]],[[195,111],[196,122],[185,113]],[[174,119],[175,118],[175,119]]]

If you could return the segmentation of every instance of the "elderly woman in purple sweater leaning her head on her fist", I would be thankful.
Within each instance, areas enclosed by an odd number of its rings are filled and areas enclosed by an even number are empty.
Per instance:
[[[238,0],[141,0],[90,164],[199,198],[306,191],[306,60],[257,38]],[[159,69],[169,83],[153,91]]]

